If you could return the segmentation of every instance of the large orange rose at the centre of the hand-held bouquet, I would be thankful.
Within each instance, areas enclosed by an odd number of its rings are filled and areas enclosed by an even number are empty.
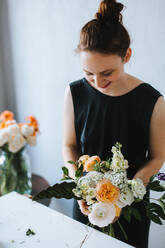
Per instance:
[[[119,192],[120,190],[108,179],[102,179],[96,186],[96,198],[101,202],[115,202],[119,198]]]

